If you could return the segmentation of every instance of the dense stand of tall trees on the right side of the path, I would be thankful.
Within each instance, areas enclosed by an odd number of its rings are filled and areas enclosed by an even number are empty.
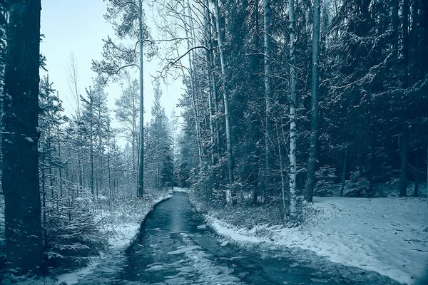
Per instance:
[[[427,177],[426,1],[176,6],[195,35],[190,47],[208,48],[189,53],[180,185],[217,202],[290,204],[294,187],[308,201],[336,189],[373,197],[394,179],[397,195],[418,195]]]

